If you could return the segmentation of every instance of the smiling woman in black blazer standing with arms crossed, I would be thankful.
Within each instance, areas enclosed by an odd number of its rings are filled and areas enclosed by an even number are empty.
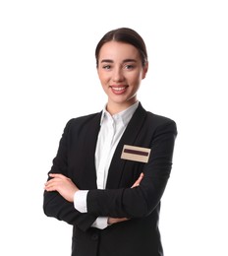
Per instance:
[[[73,225],[73,256],[161,256],[160,199],[172,166],[173,120],[137,98],[148,69],[141,35],[107,32],[95,50],[107,103],[65,127],[44,213]]]

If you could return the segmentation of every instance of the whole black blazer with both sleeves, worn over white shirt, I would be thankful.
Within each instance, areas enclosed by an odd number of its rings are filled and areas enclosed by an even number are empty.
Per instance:
[[[140,103],[114,153],[106,189],[99,190],[94,153],[100,117],[101,112],[68,122],[50,170],[89,190],[87,213],[57,192],[44,192],[44,213],[73,225],[72,256],[161,256],[160,199],[172,167],[176,124],[145,111]],[[151,149],[148,162],[121,159],[124,145]],[[131,188],[141,172],[141,185]],[[105,229],[90,227],[97,217],[130,220]]]

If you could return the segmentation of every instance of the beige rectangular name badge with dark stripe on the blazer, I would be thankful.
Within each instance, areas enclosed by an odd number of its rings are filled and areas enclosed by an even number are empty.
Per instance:
[[[148,162],[150,151],[147,148],[124,145],[121,159]]]

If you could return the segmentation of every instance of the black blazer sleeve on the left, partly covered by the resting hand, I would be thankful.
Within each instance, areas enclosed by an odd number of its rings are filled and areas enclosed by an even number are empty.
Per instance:
[[[62,173],[68,176],[68,132],[71,121],[68,122],[64,129],[64,133],[60,140],[59,149],[56,158],[53,160],[53,165],[49,173]],[[54,217],[59,221],[64,221],[68,224],[77,225],[82,230],[86,230],[95,221],[96,217],[91,214],[82,214],[78,212],[74,203],[65,200],[58,192],[47,192],[43,194],[43,211],[48,217]]]

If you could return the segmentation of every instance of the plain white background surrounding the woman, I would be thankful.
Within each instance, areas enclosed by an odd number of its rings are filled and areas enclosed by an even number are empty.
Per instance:
[[[228,255],[227,1],[0,1],[0,254],[70,255],[72,227],[42,212],[66,122],[106,96],[94,48],[112,29],[142,34],[142,105],[178,137],[162,199],[166,256]]]

